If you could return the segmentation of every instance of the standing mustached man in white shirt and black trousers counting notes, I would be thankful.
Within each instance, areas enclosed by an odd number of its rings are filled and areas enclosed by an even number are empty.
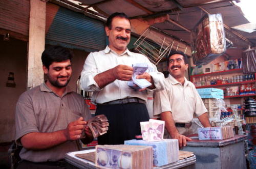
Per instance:
[[[147,91],[162,90],[164,76],[144,55],[127,49],[131,22],[124,13],[110,15],[105,32],[109,45],[88,55],[81,72],[81,85],[85,91],[93,92],[91,100],[97,104],[96,115],[104,114],[109,120],[109,130],[98,137],[98,144],[115,145],[141,134],[140,122],[149,120],[145,105]],[[132,80],[132,65],[139,63],[146,63],[151,72],[136,78],[152,85],[134,90],[127,82]]]

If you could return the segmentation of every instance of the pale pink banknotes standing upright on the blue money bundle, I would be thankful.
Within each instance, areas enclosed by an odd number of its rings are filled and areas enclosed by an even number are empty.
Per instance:
[[[140,122],[142,139],[147,142],[163,140],[164,121],[150,119],[148,122]]]

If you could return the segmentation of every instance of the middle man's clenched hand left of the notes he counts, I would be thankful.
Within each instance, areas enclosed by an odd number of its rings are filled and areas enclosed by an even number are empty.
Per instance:
[[[112,69],[113,76],[118,80],[128,81],[132,79],[133,67],[118,65]]]

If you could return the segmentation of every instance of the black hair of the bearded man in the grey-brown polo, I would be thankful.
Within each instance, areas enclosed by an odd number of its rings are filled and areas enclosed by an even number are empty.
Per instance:
[[[42,65],[49,69],[49,66],[53,62],[62,62],[67,60],[72,60],[73,56],[70,50],[63,48],[61,46],[49,46],[42,52],[41,60]]]

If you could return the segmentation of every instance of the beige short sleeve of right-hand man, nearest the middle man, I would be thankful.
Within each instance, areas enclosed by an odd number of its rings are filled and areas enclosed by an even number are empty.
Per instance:
[[[154,102],[153,102],[154,117],[160,116],[160,114],[164,111],[172,112],[172,108],[170,106],[170,101],[169,101],[169,98],[170,98],[169,92],[170,91],[167,91],[166,88],[164,90],[154,92]]]

